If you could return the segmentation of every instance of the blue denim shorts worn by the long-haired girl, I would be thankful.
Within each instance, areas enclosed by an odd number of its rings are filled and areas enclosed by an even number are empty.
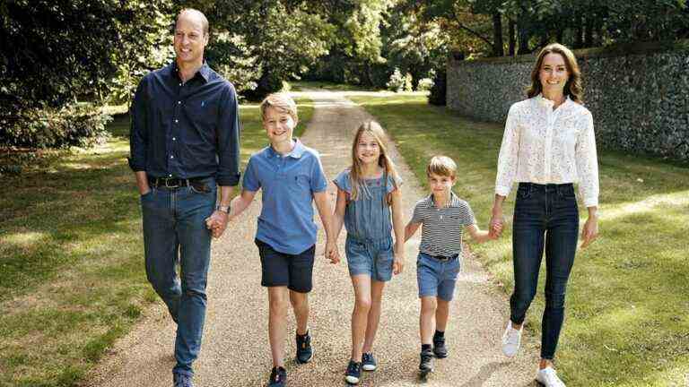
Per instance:
[[[392,251],[392,237],[362,241],[347,236],[345,254],[350,276],[367,274],[371,280],[380,282],[392,278],[392,262],[395,257]]]

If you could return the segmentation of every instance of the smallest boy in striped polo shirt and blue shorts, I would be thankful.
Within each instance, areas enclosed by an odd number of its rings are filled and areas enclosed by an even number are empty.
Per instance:
[[[433,355],[448,356],[445,328],[461,264],[462,228],[467,228],[477,243],[497,238],[476,226],[469,203],[452,192],[457,182],[457,165],[452,159],[433,157],[426,167],[426,176],[431,194],[416,202],[414,216],[405,228],[406,241],[423,224],[416,265],[421,299],[419,371],[422,374],[432,372]]]

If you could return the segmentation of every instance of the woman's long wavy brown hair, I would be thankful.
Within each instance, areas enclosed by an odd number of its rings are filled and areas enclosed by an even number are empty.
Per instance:
[[[567,47],[564,47],[560,43],[549,44],[538,53],[536,57],[536,64],[533,70],[531,70],[531,86],[527,89],[528,98],[534,98],[541,92],[543,92],[543,85],[541,80],[538,78],[538,73],[541,71],[541,66],[543,65],[543,59],[548,54],[560,54],[563,56],[564,64],[567,67],[567,72],[570,73],[570,77],[567,79],[567,83],[564,84],[564,95],[569,96],[570,99],[579,104],[584,102],[583,93],[584,90],[581,87],[581,71],[579,69],[579,64],[577,64],[577,57],[571,52]]]

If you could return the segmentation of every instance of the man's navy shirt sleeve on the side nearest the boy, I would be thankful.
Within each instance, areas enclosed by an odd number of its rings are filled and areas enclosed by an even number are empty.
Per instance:
[[[218,185],[240,182],[240,107],[237,93],[230,82],[222,99],[218,116]]]

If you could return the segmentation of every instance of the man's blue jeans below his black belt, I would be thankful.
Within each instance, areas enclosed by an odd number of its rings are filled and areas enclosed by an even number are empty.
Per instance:
[[[205,219],[215,206],[215,180],[203,181],[210,192],[193,187],[153,188],[141,197],[144,216],[146,276],[177,322],[174,373],[192,375],[205,320],[205,284],[211,259],[211,233]],[[175,270],[179,262],[180,276]]]

